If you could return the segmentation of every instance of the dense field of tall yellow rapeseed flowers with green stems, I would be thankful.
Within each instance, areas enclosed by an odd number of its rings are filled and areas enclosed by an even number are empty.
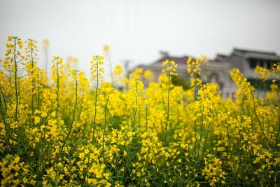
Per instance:
[[[238,69],[235,99],[202,83],[206,57],[189,58],[190,89],[162,74],[115,67],[104,57],[90,78],[53,57],[38,68],[36,41],[8,36],[0,71],[1,186],[280,186],[280,63],[255,74],[275,80],[258,97]],[[148,85],[144,85],[148,83]]]

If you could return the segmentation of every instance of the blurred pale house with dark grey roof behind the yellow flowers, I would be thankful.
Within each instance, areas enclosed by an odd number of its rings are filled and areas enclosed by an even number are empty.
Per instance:
[[[190,77],[186,72],[186,62],[189,56],[173,57],[164,52],[160,52],[160,54],[160,59],[149,65],[140,65],[139,67],[142,69],[150,69],[158,78],[161,74],[162,62],[165,60],[173,60],[178,64],[177,72],[179,76],[185,78],[186,81],[189,80]],[[258,79],[255,78],[255,67],[260,66],[272,69],[273,64],[276,62],[280,62],[280,56],[274,52],[234,48],[230,55],[218,54],[214,60],[209,60],[209,65],[202,67],[200,76],[204,83],[217,83],[223,98],[232,98],[237,87],[230,78],[230,69],[238,68],[244,74],[244,77],[248,78],[248,81],[255,85],[258,83]],[[273,77],[271,76],[270,78],[272,79]],[[260,92],[263,93],[266,89],[269,89],[270,82],[271,80],[267,81],[266,84],[268,85],[260,90]]]

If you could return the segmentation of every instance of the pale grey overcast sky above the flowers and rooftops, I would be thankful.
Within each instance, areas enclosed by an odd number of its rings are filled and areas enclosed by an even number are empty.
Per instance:
[[[88,73],[104,44],[113,64],[132,67],[171,55],[228,54],[232,48],[280,54],[279,0],[0,0],[0,56],[6,36],[50,41],[50,55],[78,57]],[[41,59],[43,61],[43,59]],[[43,65],[41,65],[43,67]]]

